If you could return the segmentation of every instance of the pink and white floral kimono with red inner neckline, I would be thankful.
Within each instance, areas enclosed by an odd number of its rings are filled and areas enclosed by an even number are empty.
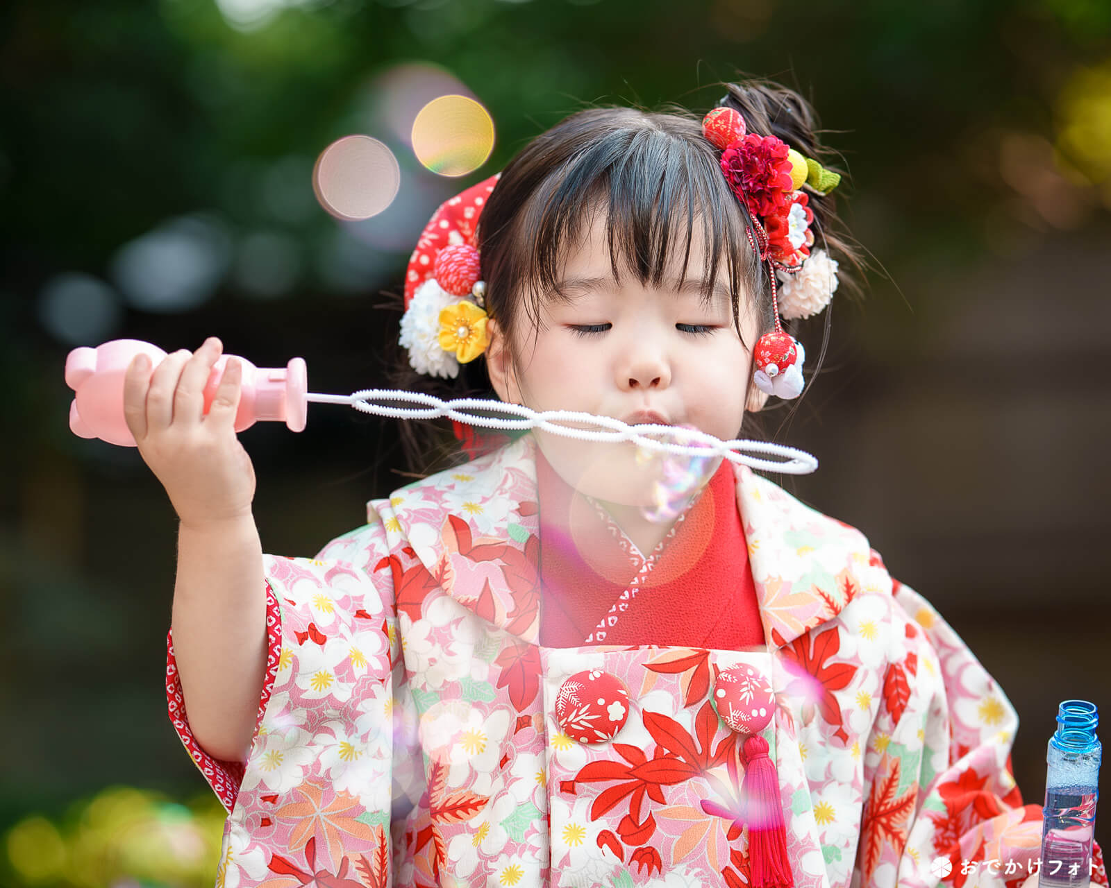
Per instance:
[[[550,472],[523,437],[316,559],[266,556],[246,763],[196,743],[171,639],[170,715],[229,815],[218,885],[750,885],[731,675],[769,685],[794,886],[1027,878],[1014,710],[862,534],[727,462],[645,557]],[[595,685],[588,736],[568,700]]]

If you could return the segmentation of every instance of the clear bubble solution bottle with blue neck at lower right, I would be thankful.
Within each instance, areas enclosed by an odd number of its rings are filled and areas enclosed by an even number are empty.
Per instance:
[[[1087,888],[1095,829],[1095,799],[1102,746],[1095,736],[1099,714],[1087,700],[1065,700],[1045,761],[1039,888]]]

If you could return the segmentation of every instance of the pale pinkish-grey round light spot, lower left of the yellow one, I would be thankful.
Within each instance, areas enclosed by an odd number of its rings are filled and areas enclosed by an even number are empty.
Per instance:
[[[393,152],[369,135],[344,135],[320,152],[312,189],[337,219],[370,219],[393,202],[401,168]]]

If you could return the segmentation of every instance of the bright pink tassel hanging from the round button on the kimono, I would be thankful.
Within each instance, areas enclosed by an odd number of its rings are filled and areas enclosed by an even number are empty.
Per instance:
[[[787,828],[779,796],[779,774],[768,755],[768,741],[758,735],[744,741],[744,780],[749,827],[749,880],[752,888],[792,888],[794,876],[787,856]]]

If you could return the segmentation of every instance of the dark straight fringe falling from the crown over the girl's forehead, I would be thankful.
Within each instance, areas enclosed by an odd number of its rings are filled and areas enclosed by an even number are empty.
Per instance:
[[[750,294],[753,304],[762,302],[759,269],[747,236],[745,211],[725,182],[701,124],[688,115],[631,109],[595,109],[575,119],[592,130],[590,138],[578,145],[579,140],[569,139],[563,162],[549,164],[521,195],[508,255],[499,263],[504,268],[491,269],[491,278],[516,283],[518,297],[539,327],[544,300],[569,299],[561,289],[567,256],[604,214],[614,281],[620,284],[629,274],[645,287],[659,289],[671,283],[675,271],[683,280],[697,248],[705,272],[701,297],[712,300],[721,279],[740,333],[742,295]],[[494,188],[491,204],[498,191]],[[483,218],[492,209],[488,206]]]

